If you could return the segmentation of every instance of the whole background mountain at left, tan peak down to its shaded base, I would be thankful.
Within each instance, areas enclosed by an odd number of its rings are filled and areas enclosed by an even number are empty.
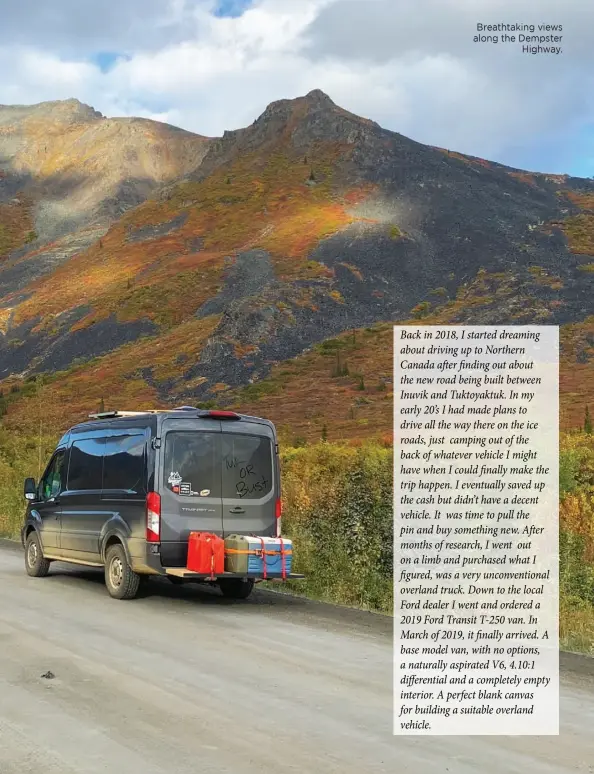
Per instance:
[[[78,100],[0,105],[0,294],[45,276],[191,172],[204,137]],[[20,248],[20,249],[19,249]]]

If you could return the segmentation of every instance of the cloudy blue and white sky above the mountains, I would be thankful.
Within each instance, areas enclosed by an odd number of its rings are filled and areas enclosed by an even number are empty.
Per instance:
[[[0,103],[77,97],[108,116],[147,116],[213,136],[251,123],[273,100],[320,88],[421,142],[526,169],[594,175],[588,0],[1,6]],[[542,44],[562,53],[473,42],[477,23],[500,22],[562,24],[562,41]]]

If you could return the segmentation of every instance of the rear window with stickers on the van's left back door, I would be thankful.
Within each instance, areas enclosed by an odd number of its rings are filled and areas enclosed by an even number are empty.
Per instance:
[[[176,494],[208,490],[210,497],[221,496],[221,463],[218,433],[169,432],[165,440],[164,483]],[[180,491],[181,489],[181,491]]]

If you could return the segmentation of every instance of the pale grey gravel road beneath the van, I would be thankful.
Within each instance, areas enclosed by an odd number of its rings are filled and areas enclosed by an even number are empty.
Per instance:
[[[1,774],[594,772],[582,660],[541,738],[395,738],[391,663],[382,616],[161,581],[118,602],[96,571],[27,577],[0,541]]]

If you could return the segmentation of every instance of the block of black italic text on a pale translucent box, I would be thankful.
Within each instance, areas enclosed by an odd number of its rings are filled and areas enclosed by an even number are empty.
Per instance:
[[[559,331],[394,329],[394,733],[559,733]]]

